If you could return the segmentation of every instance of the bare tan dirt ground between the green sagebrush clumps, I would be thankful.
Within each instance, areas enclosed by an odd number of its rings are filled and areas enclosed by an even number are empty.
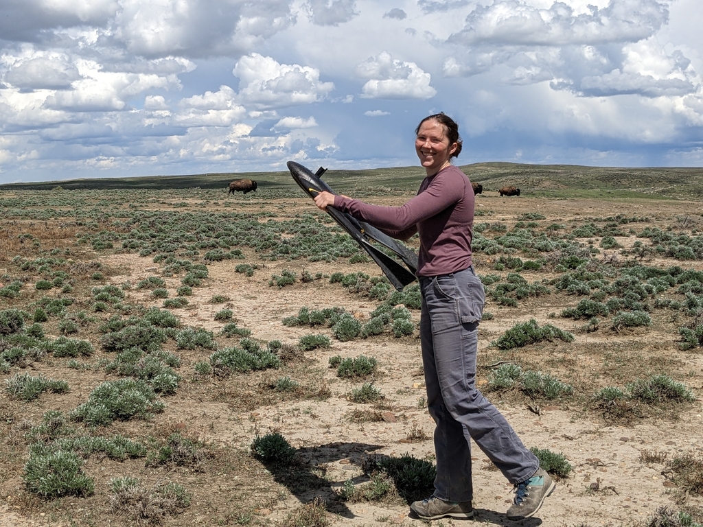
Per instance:
[[[309,203],[301,200],[296,204],[305,207]],[[662,222],[662,225],[671,223],[673,218],[681,215],[698,216],[700,212],[699,204],[693,202],[541,200],[501,198],[497,195],[479,196],[477,210],[491,213],[477,217],[477,222],[514,223],[517,216],[524,212],[539,212],[547,218],[543,223],[564,223],[570,219],[582,221],[588,217],[625,214],[650,216],[652,225],[657,222]],[[619,241],[623,245],[631,245],[634,240],[631,237]],[[95,258],[112,270],[109,282],[115,285],[126,280],[134,284],[150,275],[157,275],[160,268],[149,258],[140,258],[135,254],[96,254]],[[477,255],[477,271],[481,274],[494,273],[491,271],[491,261],[491,257],[485,254]],[[703,268],[703,262],[699,261],[690,265],[678,261],[650,261],[648,264]],[[184,325],[217,331],[224,323],[214,320],[213,315],[228,307],[232,309],[240,327],[252,330],[252,337],[262,340],[279,339],[284,344],[295,345],[303,334],[330,334],[326,328],[318,331],[317,328],[287,327],[281,323],[282,318],[297,314],[302,306],[340,306],[356,313],[357,318],[363,320],[378,305],[368,298],[349,294],[339,284],[330,284],[328,280],[298,283],[282,289],[268,285],[271,274],[278,273],[283,268],[298,274],[306,269],[313,274],[364,271],[370,275],[379,275],[380,270],[371,263],[348,266],[340,262],[266,262],[264,268],[257,270],[250,278],[234,273],[233,266],[231,261],[209,266],[212,280],[208,280],[205,287],[193,289],[193,297],[188,298],[189,306],[174,310]],[[548,278],[545,273],[523,275],[529,282]],[[166,280],[169,292],[180,285],[179,277]],[[216,294],[226,295],[230,300],[226,304],[212,304],[209,300]],[[175,296],[173,292],[171,296]],[[129,292],[129,298],[145,305],[161,305],[160,300],[150,299],[147,292],[134,289]],[[591,385],[592,391],[608,384],[610,379],[605,379],[602,374],[604,368],[610,367],[603,364],[606,355],[613,361],[612,367],[625,368],[628,362],[643,361],[652,366],[652,371],[656,370],[657,364],[671,361],[677,365],[676,372],[682,376],[687,375],[685,383],[698,399],[681,412],[678,418],[669,414],[652,415],[631,424],[609,425],[597,413],[584,411],[582,405],[543,405],[537,414],[534,407],[529,408],[528,401],[515,397],[503,400],[495,393],[489,395],[525,445],[563,453],[573,465],[574,471],[567,479],[557,482],[555,492],[544,502],[535,518],[522,522],[508,521],[505,519],[505,510],[512,500],[512,486],[495,470],[486,456],[472,445],[475,521],[499,526],[517,523],[526,526],[631,526],[645,521],[662,506],[677,510],[683,507],[703,510],[702,497],[677,493],[673,483],[662,474],[665,471],[664,464],[640,460],[643,451],[668,453],[669,459],[684,453],[703,453],[703,353],[683,353],[678,348],[676,332],[663,324],[655,323],[652,328],[639,332],[618,334],[604,330],[594,334],[577,331],[583,322],[549,316],[550,313],[559,313],[568,305],[566,302],[573,305],[576,301],[558,294],[521,302],[519,308],[491,305],[489,301],[486,311],[491,311],[494,318],[482,323],[479,329],[479,365],[486,366],[501,360],[500,352],[489,347],[490,341],[515,323],[535,318],[540,324],[548,322],[574,332],[576,339],[572,344],[550,343],[524,351],[529,353],[530,364],[557,372],[557,377],[565,382],[574,382],[576,386]],[[418,322],[418,311],[413,311],[413,320]],[[51,336],[58,337],[58,334]],[[326,493],[326,497],[329,497],[347,479],[356,478],[356,481],[361,481],[361,464],[368,454],[410,453],[421,459],[432,459],[434,423],[427,409],[423,408],[425,386],[420,344],[416,336],[417,332],[413,337],[402,339],[384,334],[367,340],[333,340],[329,349],[307,352],[304,362],[292,367],[285,375],[295,379],[296,375],[306,375],[306,370],[307,373],[318,372],[317,375],[327,383],[332,396],[323,401],[276,401],[270,405],[259,405],[255,401],[258,397],[255,386],[257,382],[282,375],[280,372],[265,372],[253,384],[247,384],[241,377],[211,377],[203,381],[193,375],[193,363],[205,360],[207,352],[179,352],[183,360],[179,372],[184,382],[176,396],[165,399],[166,411],[156,415],[153,422],[147,425],[118,423],[110,432],[129,433],[134,427],[141,427],[138,428],[141,433],[159,436],[173,429],[184,429],[213,448],[245,451],[256,434],[280,431],[293,446],[299,448],[304,461],[315,467],[314,474],[325,482],[326,487],[307,491],[299,490],[290,483],[280,483],[282,480],[276,479],[276,474],[272,480],[271,474],[251,459],[244,460],[244,466],[233,462],[231,471],[223,469],[221,474],[210,474],[207,471],[193,474],[174,470],[168,474],[169,477],[192,483],[186,483],[186,486],[194,492],[193,502],[180,516],[165,520],[167,525],[192,523],[210,526],[249,522],[275,525],[285,521],[295,507],[315,495],[325,497]],[[612,356],[613,353],[617,354],[617,351],[612,350],[618,349],[623,353],[620,362]],[[96,354],[96,360],[105,355],[101,353]],[[370,408],[370,405],[349,401],[347,394],[359,383],[347,382],[335,376],[334,370],[328,367],[328,359],[335,355],[366,355],[378,360],[380,372],[375,377],[374,384],[385,395],[381,422],[353,422],[349,419],[349,412],[355,408]],[[510,360],[510,356],[506,358]],[[58,362],[54,360],[53,366],[58,366]],[[47,375],[67,380],[71,390],[65,394],[44,396],[38,403],[28,405],[9,401],[3,395],[0,403],[6,405],[3,410],[6,415],[22,412],[25,418],[38,419],[46,410],[75,408],[97,384],[106,379],[105,374],[98,371],[77,372],[64,368],[58,375],[56,370],[50,369],[51,365],[35,367],[38,371],[46,368]],[[485,384],[489,371],[485,367],[479,370],[479,385]],[[251,401],[252,398],[254,401]],[[3,431],[6,437],[0,438],[0,441],[11,441],[12,427],[8,425]],[[413,439],[408,438],[411,435]],[[418,436],[424,439],[418,440]],[[26,449],[20,455],[26,459]],[[20,463],[15,465],[21,468]],[[136,473],[148,479],[150,476],[144,471],[143,460],[124,463],[91,460],[86,465],[86,472],[96,478],[96,496],[83,505],[78,498],[47,503],[27,497],[22,488],[20,469],[0,476],[0,525],[34,527],[129,524],[129,521],[120,518],[108,521],[106,513],[91,516],[89,509],[107,509],[105,495],[110,478]],[[218,482],[217,486],[214,486],[213,481]],[[247,500],[259,504],[253,509],[253,519],[245,521],[232,515],[227,516],[228,507],[245,509],[239,505]],[[65,514],[67,510],[71,511],[70,515]],[[383,502],[347,503],[340,509],[329,512],[328,518],[333,525],[350,527],[377,523],[419,526],[421,523],[408,518],[407,505]],[[439,522],[435,523],[439,525]],[[442,520],[441,523],[456,524],[458,521]]]

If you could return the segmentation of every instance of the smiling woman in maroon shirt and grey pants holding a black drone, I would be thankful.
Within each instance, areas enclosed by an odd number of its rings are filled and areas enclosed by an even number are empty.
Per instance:
[[[473,438],[515,485],[508,518],[527,518],[555,485],[505,417],[476,389],[477,333],[485,297],[471,261],[474,193],[469,179],[451,164],[461,152],[458,125],[439,113],[425,117],[415,134],[415,151],[427,177],[406,204],[379,207],[325,192],[315,203],[323,210],[331,206],[352,214],[394,238],[420,235],[420,341],[427,408],[437,424],[437,478],[434,494],[414,502],[411,514],[425,520],[473,516]]]

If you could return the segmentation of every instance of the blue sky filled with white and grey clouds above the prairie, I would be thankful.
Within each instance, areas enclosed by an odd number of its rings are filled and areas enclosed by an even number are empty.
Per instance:
[[[456,164],[703,167],[700,0],[1,0],[0,183]]]

